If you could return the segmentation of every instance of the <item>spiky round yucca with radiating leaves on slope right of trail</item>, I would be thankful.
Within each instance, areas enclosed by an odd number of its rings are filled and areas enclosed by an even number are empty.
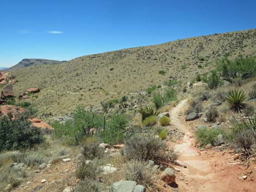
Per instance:
[[[236,113],[241,113],[242,109],[245,108],[246,103],[246,94],[243,91],[239,91],[238,89],[231,90],[227,96],[227,102],[231,110]]]

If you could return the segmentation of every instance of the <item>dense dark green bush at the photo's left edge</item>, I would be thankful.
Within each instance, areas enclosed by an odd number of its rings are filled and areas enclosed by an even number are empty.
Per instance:
[[[0,151],[32,148],[44,142],[41,130],[27,119],[26,113],[15,119],[11,114],[0,118]]]

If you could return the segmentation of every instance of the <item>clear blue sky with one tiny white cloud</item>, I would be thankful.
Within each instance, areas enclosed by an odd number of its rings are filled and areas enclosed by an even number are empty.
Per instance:
[[[256,1],[0,2],[0,66],[256,28]]]

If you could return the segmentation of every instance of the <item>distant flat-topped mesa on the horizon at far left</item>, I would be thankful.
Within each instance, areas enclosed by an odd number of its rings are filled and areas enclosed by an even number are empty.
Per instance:
[[[55,65],[55,64],[62,64],[64,61],[57,61],[57,60],[48,60],[48,59],[22,59],[20,63],[10,67],[7,71],[23,69],[29,66],[35,65]]]

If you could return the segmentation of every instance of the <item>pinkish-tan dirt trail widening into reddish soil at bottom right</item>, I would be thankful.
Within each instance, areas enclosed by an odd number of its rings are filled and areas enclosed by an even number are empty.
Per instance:
[[[249,175],[246,180],[241,179],[247,172],[243,171],[243,165],[229,163],[233,155],[231,151],[200,151],[194,147],[193,129],[181,115],[186,103],[187,100],[182,100],[169,112],[174,127],[185,133],[182,141],[174,145],[179,151],[179,160],[187,165],[187,168],[176,166],[180,170],[176,175],[179,191],[256,191],[255,174]]]

